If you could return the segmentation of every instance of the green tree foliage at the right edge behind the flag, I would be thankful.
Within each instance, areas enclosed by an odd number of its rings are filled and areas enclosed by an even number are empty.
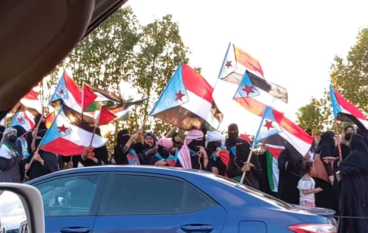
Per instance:
[[[368,112],[368,28],[362,29],[357,42],[350,48],[346,59],[336,56],[330,80],[333,88],[364,113]],[[312,98],[297,113],[297,121],[304,130],[312,128],[315,135],[334,129],[334,119],[329,92],[321,99]],[[339,124],[339,132],[350,123]]]

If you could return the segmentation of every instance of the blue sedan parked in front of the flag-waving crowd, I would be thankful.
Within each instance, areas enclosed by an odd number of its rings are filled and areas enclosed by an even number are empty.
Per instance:
[[[332,210],[290,205],[209,172],[99,166],[29,181],[47,233],[336,232]]]

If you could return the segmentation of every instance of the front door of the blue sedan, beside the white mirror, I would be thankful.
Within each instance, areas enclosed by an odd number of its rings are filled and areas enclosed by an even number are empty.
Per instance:
[[[90,233],[107,173],[57,176],[32,184],[41,193],[46,233]]]

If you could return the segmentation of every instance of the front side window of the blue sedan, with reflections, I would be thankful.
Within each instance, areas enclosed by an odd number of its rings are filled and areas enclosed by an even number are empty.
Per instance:
[[[100,175],[71,176],[35,185],[45,217],[89,215],[99,180]]]

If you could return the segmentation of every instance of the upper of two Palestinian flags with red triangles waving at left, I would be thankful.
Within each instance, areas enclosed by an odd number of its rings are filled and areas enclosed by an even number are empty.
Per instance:
[[[93,87],[88,83],[83,83],[82,94],[83,112],[95,112],[99,111],[101,106],[116,105],[124,102],[115,93]]]

